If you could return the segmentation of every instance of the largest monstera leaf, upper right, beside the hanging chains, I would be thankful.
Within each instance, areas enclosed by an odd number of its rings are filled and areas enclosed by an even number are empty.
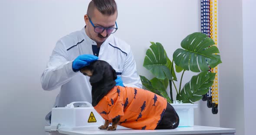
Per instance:
[[[220,55],[217,55],[220,53],[219,49],[214,44],[214,41],[203,33],[190,34],[181,42],[184,49],[178,48],[174,51],[174,63],[187,71],[208,71],[209,66],[213,68],[222,63]]]

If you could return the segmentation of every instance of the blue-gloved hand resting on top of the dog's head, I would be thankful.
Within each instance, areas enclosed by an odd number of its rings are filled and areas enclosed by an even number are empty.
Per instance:
[[[94,55],[79,55],[72,63],[72,69],[74,72],[79,71],[82,67],[88,66],[90,62],[98,60]]]

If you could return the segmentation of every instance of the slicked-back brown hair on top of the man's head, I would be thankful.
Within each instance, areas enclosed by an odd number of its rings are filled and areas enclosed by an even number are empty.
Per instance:
[[[115,0],[92,0],[87,9],[87,15],[92,16],[94,8],[97,8],[103,15],[113,15],[117,12]]]

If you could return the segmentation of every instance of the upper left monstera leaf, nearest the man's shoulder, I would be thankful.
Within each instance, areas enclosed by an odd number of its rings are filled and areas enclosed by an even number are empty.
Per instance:
[[[172,80],[171,72],[165,65],[167,58],[164,54],[164,47],[158,42],[151,42],[150,48],[146,51],[143,66],[158,79],[164,80],[168,78]]]

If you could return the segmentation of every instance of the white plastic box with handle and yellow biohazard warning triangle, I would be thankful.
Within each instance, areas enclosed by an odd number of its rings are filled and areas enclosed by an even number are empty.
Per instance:
[[[83,106],[75,107],[75,103],[83,103]],[[105,120],[88,102],[72,102],[66,107],[52,109],[51,130],[90,129],[104,125],[104,122]]]

